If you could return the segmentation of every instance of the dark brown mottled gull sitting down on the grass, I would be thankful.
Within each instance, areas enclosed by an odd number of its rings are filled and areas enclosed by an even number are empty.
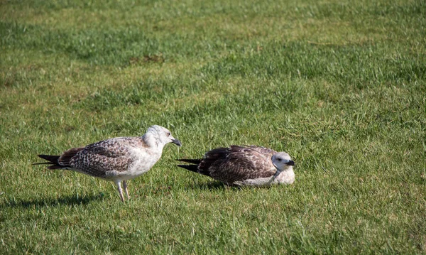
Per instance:
[[[201,159],[178,159],[194,165],[178,165],[220,180],[226,185],[264,186],[295,181],[288,153],[258,146],[229,146],[207,151]]]

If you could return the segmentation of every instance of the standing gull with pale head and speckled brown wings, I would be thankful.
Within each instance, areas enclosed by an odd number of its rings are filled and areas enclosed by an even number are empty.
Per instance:
[[[38,155],[49,162],[49,169],[75,170],[116,183],[121,201],[124,202],[121,182],[129,199],[126,180],[148,172],[160,159],[167,143],[182,146],[170,131],[163,126],[151,126],[143,136],[116,137],[89,144],[85,147],[70,148],[60,156]]]

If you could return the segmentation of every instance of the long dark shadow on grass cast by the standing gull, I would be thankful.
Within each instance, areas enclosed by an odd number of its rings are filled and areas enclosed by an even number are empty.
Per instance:
[[[6,200],[0,208],[6,207],[20,207],[20,208],[32,208],[32,207],[53,207],[58,205],[86,205],[94,200],[103,200],[104,195],[68,195],[65,197],[58,198],[36,198],[30,200]]]

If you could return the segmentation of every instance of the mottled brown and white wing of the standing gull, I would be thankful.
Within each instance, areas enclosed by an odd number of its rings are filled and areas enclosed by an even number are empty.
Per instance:
[[[71,158],[70,166],[95,177],[104,177],[111,170],[125,171],[132,161],[129,139],[120,137],[89,144]]]

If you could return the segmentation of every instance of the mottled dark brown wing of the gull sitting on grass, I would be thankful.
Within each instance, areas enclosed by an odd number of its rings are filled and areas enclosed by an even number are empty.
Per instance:
[[[230,146],[209,151],[200,163],[200,170],[224,183],[240,180],[271,177],[276,170],[268,148],[257,146]]]

